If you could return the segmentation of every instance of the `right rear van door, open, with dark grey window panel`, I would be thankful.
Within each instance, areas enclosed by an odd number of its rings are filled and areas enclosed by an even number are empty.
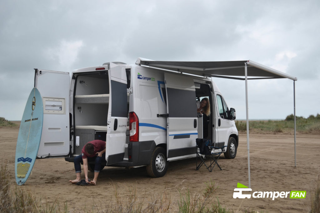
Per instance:
[[[125,68],[110,63],[109,75],[109,110],[106,139],[107,165],[123,161],[128,121],[127,76]]]

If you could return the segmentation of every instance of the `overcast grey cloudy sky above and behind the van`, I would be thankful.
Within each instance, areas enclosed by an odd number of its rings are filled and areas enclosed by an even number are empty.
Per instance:
[[[74,69],[137,57],[253,60],[298,78],[296,114],[320,113],[320,1],[0,2],[0,117],[21,120],[34,68]],[[244,119],[245,82],[214,78]],[[293,81],[248,82],[249,118],[293,113]]]

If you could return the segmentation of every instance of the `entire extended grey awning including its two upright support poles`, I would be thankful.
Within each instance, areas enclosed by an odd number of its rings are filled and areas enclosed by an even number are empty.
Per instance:
[[[296,77],[284,72],[261,65],[251,60],[245,61],[153,61],[145,58],[138,58],[137,65],[147,66],[154,69],[180,72],[185,74],[245,80],[245,103],[247,121],[247,150],[248,150],[248,179],[250,183],[250,146],[249,146],[249,107],[248,107],[248,82],[247,80],[279,79],[287,78],[293,80],[293,114],[294,114],[294,166],[296,166],[296,108],[295,108],[295,81]],[[248,78],[250,76],[251,78]]]

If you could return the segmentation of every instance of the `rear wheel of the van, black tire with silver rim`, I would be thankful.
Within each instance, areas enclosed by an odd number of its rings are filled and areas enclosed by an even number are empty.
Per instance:
[[[160,178],[165,175],[168,170],[166,153],[167,150],[163,147],[155,148],[151,156],[150,164],[147,165],[147,172],[150,177]]]

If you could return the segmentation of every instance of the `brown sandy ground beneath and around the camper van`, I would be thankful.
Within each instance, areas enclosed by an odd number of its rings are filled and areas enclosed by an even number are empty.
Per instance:
[[[14,159],[18,127],[0,128],[0,160],[8,162],[12,185],[15,183]],[[307,191],[305,199],[250,198],[234,199],[237,182],[248,186],[248,158],[246,134],[239,135],[240,141],[235,159],[222,155],[219,164],[209,172],[205,167],[196,171],[196,159],[169,162],[169,169],[162,178],[151,178],[145,167],[105,167],[96,186],[76,186],[68,181],[75,178],[74,166],[64,158],[37,159],[32,174],[22,187],[41,196],[42,200],[67,202],[68,210],[80,212],[84,209],[101,211],[106,203],[116,202],[117,193],[126,201],[130,194],[139,200],[153,202],[163,199],[171,202],[169,212],[177,211],[180,194],[189,190],[191,196],[202,195],[210,180],[219,188],[210,202],[234,212],[308,212],[311,197],[320,171],[320,133],[297,134],[297,166],[294,166],[294,136],[292,133],[250,134],[251,188],[255,191]],[[84,176],[84,174],[82,173]],[[93,173],[89,172],[89,178]],[[247,193],[244,193],[247,194]],[[157,202],[160,202],[157,200]]]

